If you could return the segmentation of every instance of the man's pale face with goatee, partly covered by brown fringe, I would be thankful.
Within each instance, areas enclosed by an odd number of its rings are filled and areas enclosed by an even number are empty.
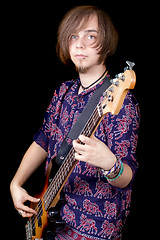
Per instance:
[[[98,38],[97,17],[90,17],[84,29],[73,33],[69,41],[69,53],[79,73],[86,73],[98,65],[98,49],[95,43]]]

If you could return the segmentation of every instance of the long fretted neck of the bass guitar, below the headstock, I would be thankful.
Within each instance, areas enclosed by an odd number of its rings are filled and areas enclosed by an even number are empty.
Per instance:
[[[81,134],[84,134],[87,137],[91,137],[91,135],[97,129],[102,119],[102,116],[103,116],[102,106],[99,103],[94,109],[87,123],[85,124],[83,130],[81,131]],[[43,196],[46,211],[50,207],[54,198],[63,188],[65,182],[67,181],[68,177],[70,176],[73,168],[77,163],[74,157],[74,153],[75,151],[74,148],[72,147]]]

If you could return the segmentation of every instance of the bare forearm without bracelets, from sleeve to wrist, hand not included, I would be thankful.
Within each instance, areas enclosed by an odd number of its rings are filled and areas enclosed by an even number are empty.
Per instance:
[[[33,142],[22,159],[22,162],[11,182],[11,187],[13,184],[22,186],[46,157],[47,153],[45,150],[36,142]]]

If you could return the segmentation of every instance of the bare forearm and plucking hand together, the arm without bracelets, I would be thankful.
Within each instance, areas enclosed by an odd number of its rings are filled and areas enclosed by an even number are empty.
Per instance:
[[[11,196],[13,203],[17,211],[21,213],[23,217],[31,217],[37,212],[26,206],[26,201],[37,203],[38,198],[30,196],[22,185],[27,181],[30,175],[40,166],[40,164],[47,157],[47,153],[36,142],[33,142],[27,152],[25,153],[22,162],[10,184]]]

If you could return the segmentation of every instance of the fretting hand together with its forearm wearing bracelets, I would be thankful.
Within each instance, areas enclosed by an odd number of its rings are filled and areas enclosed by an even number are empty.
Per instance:
[[[81,142],[84,144],[81,144]],[[76,151],[75,158],[79,161],[88,162],[104,171],[109,171],[116,166],[116,170],[119,170],[117,175],[115,175],[117,176],[116,179],[113,177],[115,180],[110,181],[108,179],[109,175],[107,177],[108,182],[113,186],[124,188],[130,183],[132,179],[131,168],[127,164],[123,164],[123,171],[120,172],[122,162],[120,161],[119,165],[117,165],[117,158],[114,153],[96,137],[93,136],[90,139],[84,135],[80,135],[78,140],[73,141],[73,147]],[[117,166],[119,166],[118,169]]]

